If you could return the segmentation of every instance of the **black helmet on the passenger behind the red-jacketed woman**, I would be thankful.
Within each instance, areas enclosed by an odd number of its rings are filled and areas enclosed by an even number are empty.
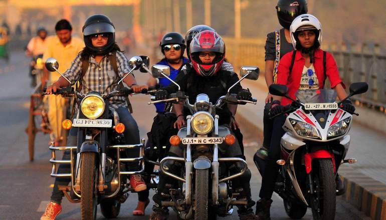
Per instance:
[[[307,0],[279,0],[276,11],[280,25],[289,29],[295,17],[308,12]]]

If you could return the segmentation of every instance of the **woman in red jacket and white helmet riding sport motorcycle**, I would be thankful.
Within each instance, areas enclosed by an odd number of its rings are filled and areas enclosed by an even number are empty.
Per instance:
[[[280,60],[276,83],[287,85],[289,96],[296,99],[295,92],[298,89],[323,88],[325,78],[328,77],[331,88],[335,89],[339,99],[345,98],[347,93],[333,56],[320,49],[322,27],[319,20],[311,14],[299,15],[293,20],[290,32],[292,45],[296,50],[286,53]],[[285,97],[282,99],[275,96],[274,99],[270,109],[271,115],[283,112],[286,109],[285,105],[292,102]],[[355,110],[349,99],[343,102],[343,108],[348,111]],[[274,119],[271,146],[259,194],[261,199],[256,204],[259,219],[270,219],[271,197],[279,170],[276,161],[280,157],[280,139],[285,133],[282,128],[285,119],[286,115]],[[337,177],[337,186],[344,187],[339,180]]]

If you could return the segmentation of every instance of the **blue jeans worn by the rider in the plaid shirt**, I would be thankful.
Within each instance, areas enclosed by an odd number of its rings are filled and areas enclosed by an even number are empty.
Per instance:
[[[125,107],[119,107],[115,109],[119,115],[119,120],[121,123],[125,125],[125,143],[126,144],[137,144],[139,143],[139,129],[137,122],[135,121],[134,117],[131,115],[129,110]],[[70,129],[68,138],[67,138],[67,145],[69,146],[75,146],[77,145],[77,136],[78,136],[78,128],[72,127]],[[138,157],[139,156],[139,148],[137,149],[127,149],[126,154],[128,157]],[[69,160],[70,159],[70,151],[66,150],[63,153],[63,160]],[[130,164],[129,168],[136,168],[138,164],[132,163]],[[70,173],[71,172],[71,166],[70,164],[60,164],[58,168],[58,173]],[[56,203],[61,203],[62,198],[64,196],[64,193],[59,190],[58,185],[68,185],[70,183],[71,178],[68,177],[57,177],[55,178],[54,188],[51,194],[51,201],[54,201]]]

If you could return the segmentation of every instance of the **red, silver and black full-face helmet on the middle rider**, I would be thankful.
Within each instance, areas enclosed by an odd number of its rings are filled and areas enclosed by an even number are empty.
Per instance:
[[[216,57],[211,63],[204,63],[200,59],[200,52],[215,52]],[[212,76],[220,69],[225,58],[225,43],[221,36],[213,30],[198,33],[190,42],[191,63],[199,75]]]

